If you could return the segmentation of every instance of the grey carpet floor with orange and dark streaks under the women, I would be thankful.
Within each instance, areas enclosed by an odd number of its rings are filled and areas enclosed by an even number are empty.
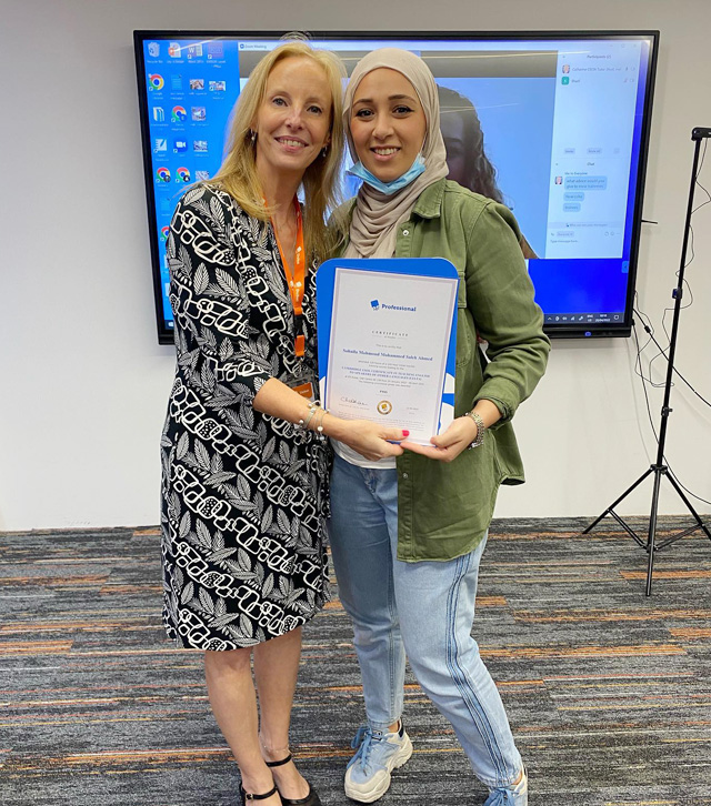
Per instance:
[[[614,523],[495,521],[474,623],[531,780],[531,806],[711,804],[711,542],[647,554]],[[643,530],[643,525],[637,522]],[[678,526],[663,518],[661,535]],[[199,653],[160,624],[156,528],[0,534],[0,804],[237,804]],[[293,749],[324,806],[362,717],[350,625],[304,631]],[[382,806],[485,793],[414,679],[414,743]]]

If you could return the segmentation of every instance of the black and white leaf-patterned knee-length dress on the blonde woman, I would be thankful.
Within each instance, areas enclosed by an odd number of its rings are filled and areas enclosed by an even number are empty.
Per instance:
[[[229,194],[183,195],[168,261],[178,361],[161,442],[163,621],[184,647],[253,646],[329,596],[328,446],[252,406],[270,377],[316,380],[314,271],[298,359],[273,232]]]

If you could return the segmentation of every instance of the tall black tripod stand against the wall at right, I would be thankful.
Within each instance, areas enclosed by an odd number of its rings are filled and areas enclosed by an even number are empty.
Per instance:
[[[691,132],[691,139],[695,142],[695,149],[693,154],[693,168],[691,169],[691,188],[689,189],[689,204],[687,206],[687,221],[684,224],[684,241],[683,245],[681,248],[681,265],[679,268],[679,274],[677,275],[679,278],[679,283],[677,284],[677,288],[672,291],[672,298],[674,299],[674,318],[672,321],[671,326],[671,337],[669,343],[669,355],[668,355],[668,362],[667,362],[667,381],[664,383],[664,402],[662,404],[662,422],[659,430],[659,446],[657,450],[657,461],[653,465],[649,467],[642,475],[632,484],[631,487],[625,490],[622,495],[620,495],[619,498],[612,502],[610,506],[599,516],[597,517],[587,528],[583,530],[583,534],[588,534],[591,530],[593,530],[600,521],[605,515],[612,515],[612,517],[622,526],[622,528],[634,540],[635,543],[638,543],[644,551],[649,554],[649,565],[647,570],[647,595],[650,596],[652,593],[652,573],[654,571],[654,553],[662,551],[662,548],[667,548],[667,546],[670,546],[672,543],[675,543],[678,540],[681,540],[682,537],[685,537],[689,534],[692,534],[693,532],[697,532],[698,530],[702,530],[707,537],[711,540],[711,532],[709,531],[709,527],[704,525],[702,520],[699,517],[697,511],[691,505],[691,502],[689,498],[684,495],[683,490],[677,482],[677,480],[669,473],[669,469],[664,464],[664,442],[667,440],[667,424],[669,421],[669,415],[671,414],[672,410],[669,407],[669,397],[671,394],[671,386],[672,386],[672,376],[674,374],[674,353],[677,351],[677,332],[679,330],[679,314],[681,312],[681,298],[683,293],[683,283],[684,283],[684,268],[687,264],[687,246],[689,244],[689,233],[691,232],[691,213],[693,212],[693,195],[694,195],[694,189],[697,184],[697,175],[699,170],[699,154],[701,153],[701,141],[704,139],[711,138],[711,129],[707,128],[700,128],[697,127]],[[617,512],[614,512],[614,507],[627,496],[635,490],[648,476],[653,475],[654,476],[654,487],[652,493],[652,510],[649,517],[649,532],[647,535],[647,541],[644,541],[642,537],[640,537],[621,517],[618,515]],[[678,532],[677,534],[672,535],[671,537],[668,537],[664,541],[661,541],[657,543],[654,541],[654,535],[657,533],[657,510],[659,506],[659,486],[661,483],[662,477],[668,478],[671,482],[671,485],[673,488],[679,493],[679,497],[687,505],[687,508],[691,513],[691,515],[694,518],[694,525],[690,526],[689,528],[682,530],[681,532]]]

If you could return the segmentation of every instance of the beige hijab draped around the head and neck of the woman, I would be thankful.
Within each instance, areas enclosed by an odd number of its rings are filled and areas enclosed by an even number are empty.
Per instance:
[[[353,98],[363,77],[378,68],[390,68],[402,73],[418,93],[427,120],[427,133],[422,145],[425,170],[413,182],[392,195],[385,195],[363,182],[358,191],[350,228],[350,243],[344,258],[392,258],[395,251],[398,224],[410,216],[420,193],[449,173],[447,151],[440,132],[440,102],[434,78],[422,59],[399,48],[371,51],[358,62],[351,74],[346,89],[343,120],[353,161],[358,161],[350,129]]]

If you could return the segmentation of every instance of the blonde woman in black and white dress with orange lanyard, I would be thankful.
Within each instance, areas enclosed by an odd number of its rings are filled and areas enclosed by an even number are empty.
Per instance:
[[[289,724],[301,625],[329,596],[313,269],[329,250],[342,77],[304,42],[266,56],[219,173],[184,193],[168,239],[178,361],[161,442],[164,624],[204,652],[242,803],[263,806],[320,804]],[[402,436],[368,423],[339,433],[357,450]]]

